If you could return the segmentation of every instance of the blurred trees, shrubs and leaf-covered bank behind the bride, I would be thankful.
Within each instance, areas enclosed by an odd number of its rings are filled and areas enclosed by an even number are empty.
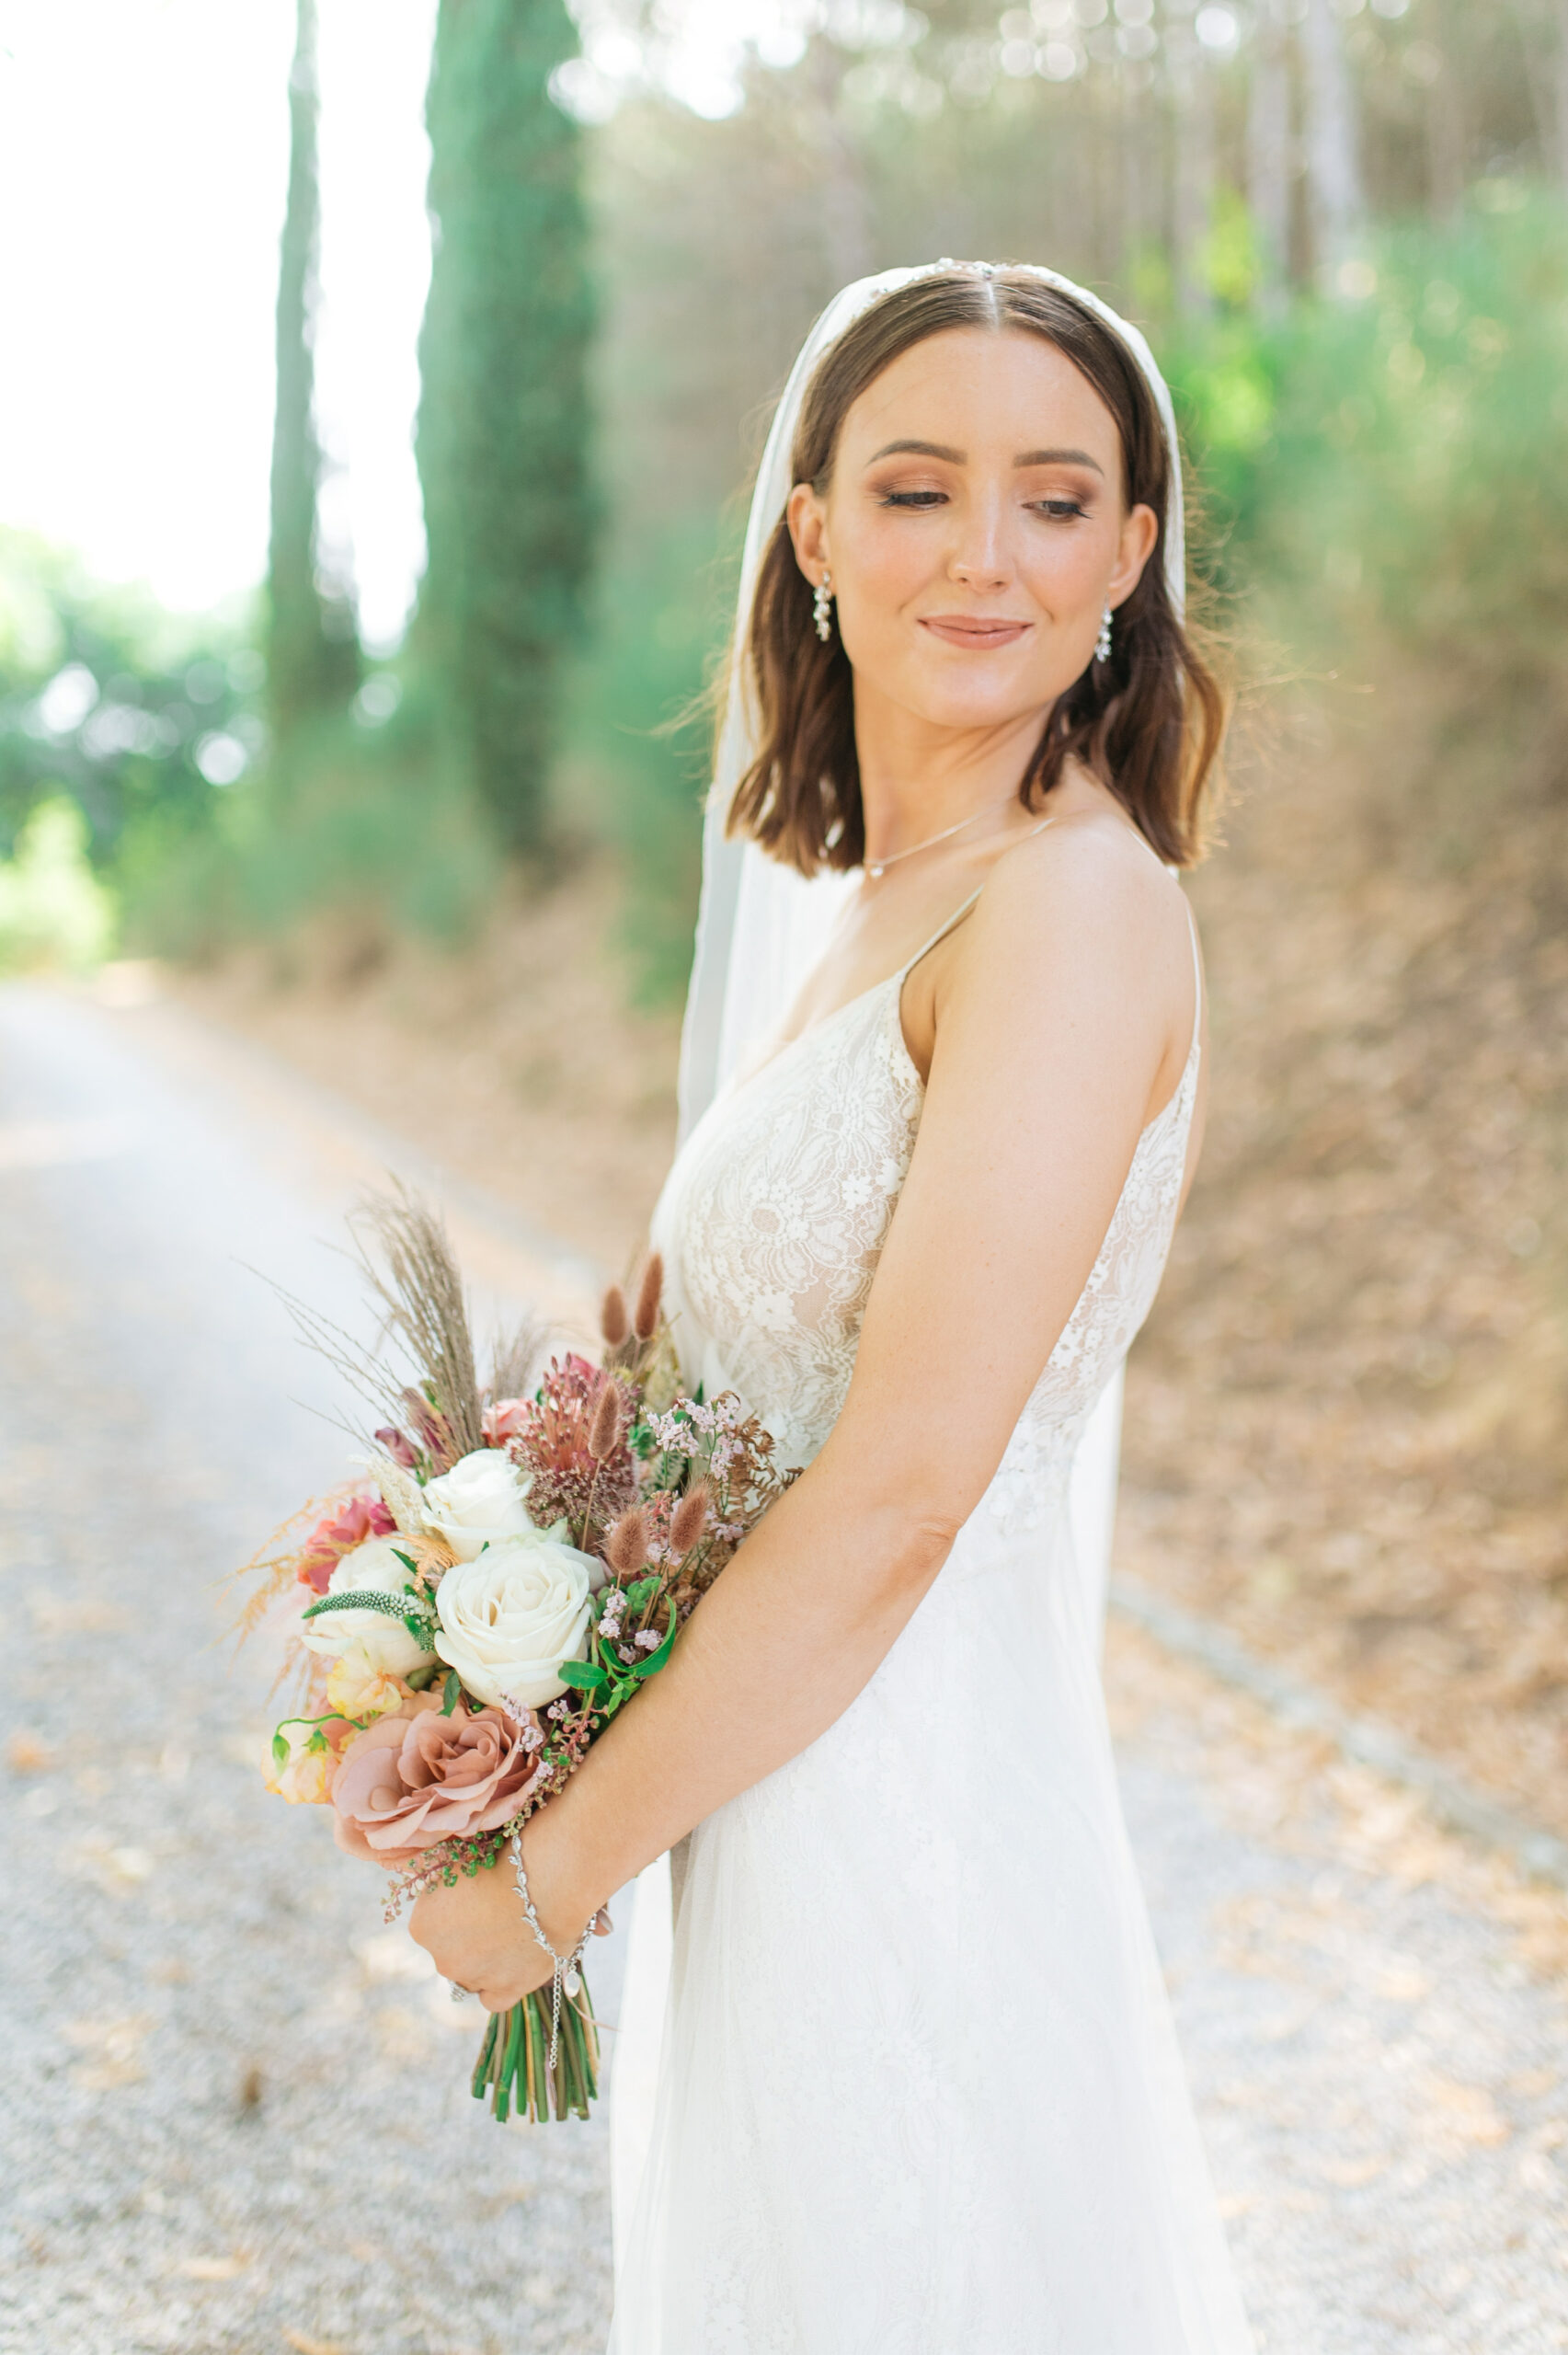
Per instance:
[[[1568,0],[775,0],[706,73],[702,14],[440,0],[388,655],[320,532],[297,0],[268,582],[193,624],[0,537],[0,963],[155,958],[622,1260],[768,400],[866,268],[1088,280],[1241,688],[1121,1559],[1568,1830]]]

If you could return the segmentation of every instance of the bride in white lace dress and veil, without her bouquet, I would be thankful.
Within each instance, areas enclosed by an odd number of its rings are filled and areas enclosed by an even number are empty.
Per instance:
[[[803,1474],[523,1839],[563,1955],[680,1860],[614,2355],[1250,2346],[1069,1512],[1198,1149],[1220,732],[1135,330],[1036,268],[845,290],[758,483],[655,1215],[685,1380]],[[414,1933],[490,2009],[551,1973],[501,1875]]]

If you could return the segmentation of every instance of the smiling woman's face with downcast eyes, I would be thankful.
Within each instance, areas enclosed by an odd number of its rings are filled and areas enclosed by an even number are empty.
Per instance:
[[[826,495],[789,499],[800,570],[833,577],[857,709],[1043,716],[1154,551],[1121,473],[1116,419],[1043,337],[951,327],[899,353],[845,414]]]

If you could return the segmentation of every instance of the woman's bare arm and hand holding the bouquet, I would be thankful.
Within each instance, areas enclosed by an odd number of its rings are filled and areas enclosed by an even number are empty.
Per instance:
[[[984,1495],[1099,1255],[1191,1010],[1180,895],[1102,827],[1001,862],[937,1001],[921,1135],[833,1432],[692,1613],[669,1667],[527,1825],[565,1950],[605,1898],[833,1724]],[[492,2004],[549,1976],[499,1875],[414,1936]]]

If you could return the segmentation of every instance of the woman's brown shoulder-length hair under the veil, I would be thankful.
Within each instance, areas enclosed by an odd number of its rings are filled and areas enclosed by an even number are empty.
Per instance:
[[[805,389],[793,476],[824,492],[843,419],[881,372],[930,334],[986,327],[1045,337],[1095,386],[1121,433],[1128,506],[1151,506],[1158,539],[1116,610],[1109,662],[1090,662],[1045,721],[1019,780],[1038,808],[1067,761],[1081,761],[1121,801],[1163,860],[1203,855],[1203,803],[1217,780],[1227,699],[1165,584],[1170,452],[1142,367],[1092,311],[1024,271],[951,268],[883,294],[845,327]],[[855,754],[855,681],[838,631],[812,626],[812,589],[779,518],[756,582],[744,678],[758,716],[758,756],[730,805],[730,834],[749,834],[800,874],[859,867],[866,829]]]

